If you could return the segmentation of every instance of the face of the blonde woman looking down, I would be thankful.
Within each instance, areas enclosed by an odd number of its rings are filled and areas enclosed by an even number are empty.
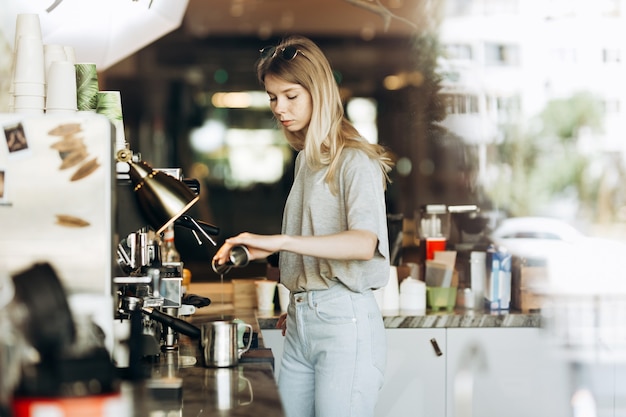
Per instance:
[[[265,91],[276,119],[290,132],[306,129],[311,122],[311,94],[300,84],[289,83],[274,75],[265,76]]]

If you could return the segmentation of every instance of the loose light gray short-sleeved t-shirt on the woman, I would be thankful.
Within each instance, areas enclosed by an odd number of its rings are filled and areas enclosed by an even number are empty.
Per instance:
[[[322,236],[346,230],[369,230],[378,237],[368,261],[333,260],[280,253],[280,281],[292,292],[328,289],[339,282],[363,292],[386,285],[389,242],[383,174],[363,151],[344,149],[334,195],[324,181],[327,168],[312,170],[304,151],[296,157],[295,178],[285,204],[282,233]]]

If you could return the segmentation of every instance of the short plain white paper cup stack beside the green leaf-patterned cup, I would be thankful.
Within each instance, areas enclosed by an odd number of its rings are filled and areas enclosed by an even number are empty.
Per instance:
[[[76,111],[76,70],[71,62],[50,65],[46,109]]]

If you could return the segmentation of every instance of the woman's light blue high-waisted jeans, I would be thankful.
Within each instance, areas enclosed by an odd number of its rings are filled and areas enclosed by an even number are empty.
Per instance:
[[[387,342],[371,291],[292,294],[278,387],[286,417],[371,417]]]

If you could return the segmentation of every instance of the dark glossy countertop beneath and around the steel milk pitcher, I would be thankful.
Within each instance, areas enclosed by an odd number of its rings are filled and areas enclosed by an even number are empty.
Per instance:
[[[145,381],[122,387],[123,398],[132,402],[133,416],[284,416],[273,356],[263,346],[254,311],[233,313],[212,309],[188,321],[201,326],[210,320],[240,318],[257,332],[258,348],[244,353],[237,366],[210,368],[204,366],[198,340],[179,335],[177,351],[164,352],[158,360],[145,364],[149,375]]]

